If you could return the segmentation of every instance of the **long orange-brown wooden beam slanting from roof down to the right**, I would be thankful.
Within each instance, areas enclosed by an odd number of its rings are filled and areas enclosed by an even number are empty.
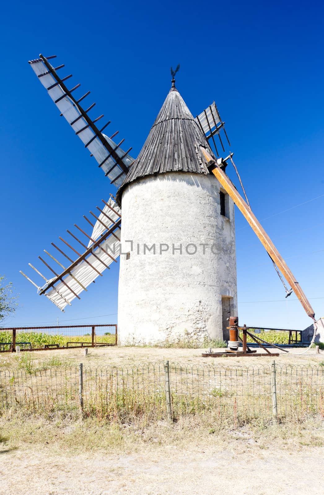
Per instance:
[[[300,287],[299,283],[295,279],[294,275],[290,271],[287,263],[284,261],[282,256],[280,255],[279,251],[277,248],[274,246],[272,243],[270,237],[260,224],[260,222],[257,220],[256,216],[253,214],[251,208],[248,206],[246,201],[242,198],[242,196],[237,192],[235,189],[234,185],[232,182],[229,180],[225,172],[218,166],[214,158],[211,156],[211,154],[208,152],[208,150],[204,147],[200,147],[202,153],[204,154],[206,160],[208,161],[208,168],[211,173],[213,173],[216,177],[216,179],[219,181],[221,186],[225,189],[226,193],[233,199],[234,203],[238,207],[238,209],[241,211],[249,225],[252,227],[253,231],[257,235],[257,237],[260,239],[261,243],[263,246],[266,248],[267,252],[270,254],[270,257],[273,259],[277,267],[279,268],[280,272],[282,275],[285,277],[287,282],[290,284],[290,287],[296,294],[298,300],[302,304],[303,308],[305,309],[306,313],[308,316],[314,319],[315,317],[315,312],[314,309],[312,308],[309,300],[305,296],[302,288]]]

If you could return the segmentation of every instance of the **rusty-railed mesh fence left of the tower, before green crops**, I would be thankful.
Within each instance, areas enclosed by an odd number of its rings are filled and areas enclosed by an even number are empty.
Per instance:
[[[36,350],[109,345],[117,345],[115,323],[0,328],[0,352],[14,351],[17,346],[20,350]]]

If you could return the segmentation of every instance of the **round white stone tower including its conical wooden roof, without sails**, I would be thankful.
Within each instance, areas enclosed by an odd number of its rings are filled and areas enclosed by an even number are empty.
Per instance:
[[[205,135],[174,80],[118,190],[121,344],[226,339],[237,315],[234,204],[209,174]]]

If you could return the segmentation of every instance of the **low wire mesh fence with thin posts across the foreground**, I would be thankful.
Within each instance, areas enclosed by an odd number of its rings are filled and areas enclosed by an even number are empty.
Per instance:
[[[304,420],[324,417],[324,367],[156,362],[1,370],[0,409],[52,415],[82,412],[122,421],[209,412],[219,420],[273,416]]]

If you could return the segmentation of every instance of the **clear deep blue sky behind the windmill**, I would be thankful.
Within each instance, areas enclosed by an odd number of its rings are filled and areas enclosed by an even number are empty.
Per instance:
[[[257,218],[324,316],[323,14],[320,1],[6,2],[0,273],[20,307],[5,323],[117,318],[118,266],[65,313],[19,274],[31,274],[28,262],[40,268],[43,249],[116,191],[29,67],[40,52],[65,63],[60,74],[73,74],[70,87],[81,83],[78,95],[91,90],[91,115],[104,113],[133,156],[169,90],[170,65],[180,63],[178,90],[194,115],[216,101]],[[308,326],[238,211],[236,236],[240,322]]]

